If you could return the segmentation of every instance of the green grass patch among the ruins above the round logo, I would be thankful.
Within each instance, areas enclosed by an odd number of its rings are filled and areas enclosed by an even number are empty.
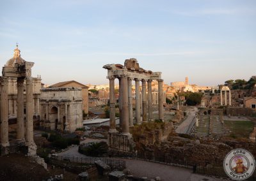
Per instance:
[[[231,131],[232,138],[249,138],[254,125],[252,121],[244,120],[224,120],[224,124]]]

